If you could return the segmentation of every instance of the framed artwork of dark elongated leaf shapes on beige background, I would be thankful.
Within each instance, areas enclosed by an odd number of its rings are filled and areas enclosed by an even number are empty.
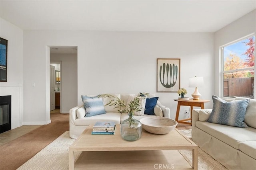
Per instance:
[[[157,92],[178,92],[180,59],[157,59]]]

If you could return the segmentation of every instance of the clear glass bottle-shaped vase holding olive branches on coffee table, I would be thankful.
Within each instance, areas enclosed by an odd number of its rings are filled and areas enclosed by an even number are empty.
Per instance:
[[[128,119],[121,123],[121,136],[126,141],[136,141],[142,135],[142,124],[129,113]]]

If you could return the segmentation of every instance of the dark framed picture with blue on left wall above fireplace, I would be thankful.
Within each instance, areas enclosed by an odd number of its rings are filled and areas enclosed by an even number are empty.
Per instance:
[[[0,82],[7,82],[7,43],[0,38]]]

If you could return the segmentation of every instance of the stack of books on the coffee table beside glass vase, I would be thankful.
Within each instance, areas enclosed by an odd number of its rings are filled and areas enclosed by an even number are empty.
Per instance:
[[[97,121],[92,128],[92,135],[114,135],[115,122]]]

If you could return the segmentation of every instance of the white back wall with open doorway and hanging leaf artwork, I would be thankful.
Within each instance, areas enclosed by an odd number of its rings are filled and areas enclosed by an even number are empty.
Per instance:
[[[47,46],[78,47],[77,102],[81,94],[156,93],[156,59],[181,59],[181,87],[203,76],[202,99],[214,91],[214,34],[112,31],[24,31],[24,121],[48,122],[50,113]],[[36,71],[34,71],[36,70]],[[36,87],[32,87],[35,82]],[[40,97],[36,97],[34,94]],[[157,93],[160,102],[176,114],[177,93]],[[31,105],[33,101],[37,101]],[[205,105],[211,108],[212,104]],[[188,107],[186,107],[188,108]],[[35,111],[37,110],[37,111]],[[182,110],[182,109],[181,109]],[[184,113],[184,111],[181,111]],[[180,115],[180,118],[185,115]]]

